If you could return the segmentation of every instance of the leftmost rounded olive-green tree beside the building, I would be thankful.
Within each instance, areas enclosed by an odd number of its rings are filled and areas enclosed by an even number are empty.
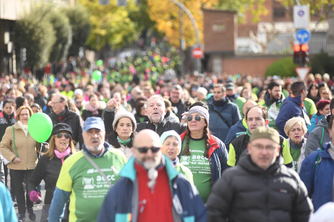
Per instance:
[[[41,14],[25,13],[15,24],[17,47],[26,48],[27,63],[30,67],[44,66],[49,59],[55,42],[52,24]]]

